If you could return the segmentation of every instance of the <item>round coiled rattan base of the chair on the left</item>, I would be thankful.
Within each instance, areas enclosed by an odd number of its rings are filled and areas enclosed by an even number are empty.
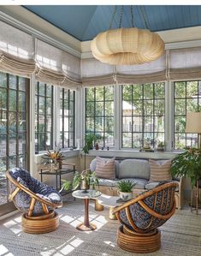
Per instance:
[[[26,217],[26,214],[23,214],[21,217],[21,227],[22,230],[30,234],[43,234],[54,231],[59,226],[59,216],[57,212],[50,214],[49,218],[42,216],[41,218],[32,218]]]

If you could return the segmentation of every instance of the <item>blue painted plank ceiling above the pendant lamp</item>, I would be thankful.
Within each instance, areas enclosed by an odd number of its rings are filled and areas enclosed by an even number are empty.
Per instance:
[[[80,41],[93,39],[108,30],[114,5],[26,5],[24,8],[49,21]],[[112,28],[119,27],[121,6],[117,6]],[[152,32],[201,25],[201,5],[133,6],[134,27]],[[131,8],[123,7],[121,27],[132,27]]]

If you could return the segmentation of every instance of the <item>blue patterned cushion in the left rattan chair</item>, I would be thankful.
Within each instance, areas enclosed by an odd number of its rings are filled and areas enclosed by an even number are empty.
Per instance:
[[[33,193],[36,193],[40,198],[49,200],[52,203],[58,204],[62,202],[62,196],[60,193],[56,191],[55,188],[52,188],[42,182],[39,182],[27,172],[27,170],[23,170],[21,168],[13,168],[9,170],[9,175],[12,176],[17,182],[20,182],[21,185],[30,189]],[[15,185],[13,183],[10,184],[10,192],[12,193],[15,190]],[[20,191],[15,195],[13,199],[15,206],[22,212],[27,213],[31,197],[24,191]],[[48,206],[48,209],[51,210],[52,207]],[[41,203],[37,200],[34,209],[33,215],[42,214],[43,208]]]

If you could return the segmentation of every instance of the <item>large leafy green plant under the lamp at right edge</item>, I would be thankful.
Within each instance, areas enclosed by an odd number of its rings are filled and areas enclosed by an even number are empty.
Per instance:
[[[201,149],[190,148],[172,160],[171,173],[173,176],[190,178],[192,187],[201,179]]]

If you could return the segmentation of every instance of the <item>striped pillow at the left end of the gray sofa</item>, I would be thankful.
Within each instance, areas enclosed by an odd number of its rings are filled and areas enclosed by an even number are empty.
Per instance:
[[[104,179],[115,179],[115,158],[96,158],[96,176]]]

